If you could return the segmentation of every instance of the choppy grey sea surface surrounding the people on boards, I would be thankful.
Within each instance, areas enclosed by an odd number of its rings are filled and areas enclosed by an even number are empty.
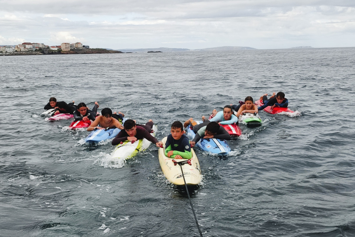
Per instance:
[[[85,144],[70,120],[47,122],[49,97],[153,119],[200,119],[246,96],[283,91],[294,114],[219,157],[195,149],[190,190],[203,236],[355,236],[355,48],[0,57],[0,236],[199,236],[184,188],[158,149],[125,162],[110,141]]]

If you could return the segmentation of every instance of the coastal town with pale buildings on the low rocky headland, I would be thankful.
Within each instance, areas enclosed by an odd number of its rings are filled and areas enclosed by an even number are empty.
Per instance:
[[[42,55],[42,54],[93,54],[93,53],[122,53],[117,50],[90,49],[89,45],[80,42],[73,44],[61,43],[48,46],[42,43],[24,42],[17,45],[0,46],[0,55]]]

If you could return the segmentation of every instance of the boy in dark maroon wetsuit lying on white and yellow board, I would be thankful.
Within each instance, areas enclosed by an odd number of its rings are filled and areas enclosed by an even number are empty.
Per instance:
[[[160,145],[163,145],[163,142],[158,141],[151,135],[153,124],[152,119],[149,119],[149,122],[146,123],[146,125],[136,124],[134,120],[127,119],[123,125],[125,129],[122,129],[117,134],[111,144],[115,146],[120,144],[121,141],[137,141],[145,138],[159,147]]]

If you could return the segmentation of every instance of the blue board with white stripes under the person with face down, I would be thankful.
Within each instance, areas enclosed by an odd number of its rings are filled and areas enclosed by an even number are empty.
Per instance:
[[[202,121],[196,121],[197,124],[202,123]],[[187,126],[187,134],[190,134],[192,139],[195,137],[195,132],[192,130],[191,125]],[[230,147],[224,140],[210,138],[210,139],[200,139],[196,143],[196,146],[200,147],[204,151],[209,151],[211,153],[225,155],[230,152]]]

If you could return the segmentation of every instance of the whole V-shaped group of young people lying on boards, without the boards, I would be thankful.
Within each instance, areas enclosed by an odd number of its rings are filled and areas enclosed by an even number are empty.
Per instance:
[[[253,102],[251,96],[247,96],[244,103],[238,105],[226,105],[223,111],[217,112],[217,110],[212,111],[211,119],[206,119],[202,116],[203,123],[197,124],[193,118],[190,118],[182,124],[180,121],[175,121],[171,125],[170,134],[167,137],[165,143],[165,155],[170,158],[175,159],[190,159],[192,157],[191,147],[194,147],[201,138],[217,138],[230,140],[231,137],[229,133],[220,124],[238,124],[238,118],[243,113],[258,113],[258,111],[263,110],[267,106],[274,108],[278,107],[288,107],[288,100],[285,98],[283,92],[278,92],[270,98],[267,98],[267,94],[260,97],[260,101],[263,102],[263,106],[257,107]],[[94,108],[89,110],[84,103],[79,103],[77,106],[72,103],[65,103],[64,101],[56,102],[54,97],[49,99],[49,103],[44,107],[44,109],[56,109],[52,115],[57,113],[70,113],[74,114],[76,120],[93,120],[91,125],[87,128],[88,131],[96,129],[106,129],[106,128],[119,128],[121,131],[112,140],[112,145],[118,145],[123,141],[137,141],[146,138],[158,147],[163,146],[162,141],[158,141],[154,136],[151,135],[153,128],[153,120],[149,119],[148,123],[136,124],[135,120],[127,119],[122,125],[122,119],[124,114],[121,112],[112,113],[110,108],[103,108],[101,115],[93,118],[91,115],[97,114],[97,109],[99,104],[95,102]],[[236,115],[233,114],[233,109],[237,111]],[[89,115],[88,115],[89,114]],[[120,122],[121,121],[121,122]],[[195,137],[192,141],[185,135],[184,128],[191,126],[195,132]]]

